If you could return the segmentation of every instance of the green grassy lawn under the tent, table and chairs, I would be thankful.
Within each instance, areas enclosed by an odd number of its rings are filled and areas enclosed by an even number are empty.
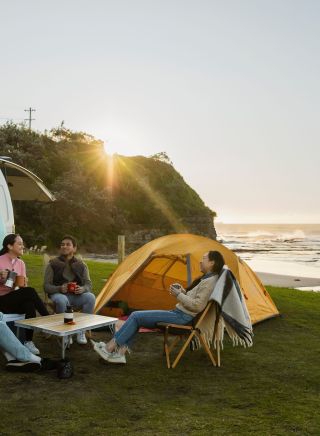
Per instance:
[[[30,285],[41,290],[41,256],[25,260]],[[88,264],[99,292],[114,266]],[[69,380],[1,368],[0,435],[319,435],[320,294],[268,290],[282,316],[254,328],[251,349],[226,340],[219,369],[202,350],[166,369],[157,333],[139,335],[126,366],[73,345]],[[56,339],[35,342],[42,355],[59,355]]]

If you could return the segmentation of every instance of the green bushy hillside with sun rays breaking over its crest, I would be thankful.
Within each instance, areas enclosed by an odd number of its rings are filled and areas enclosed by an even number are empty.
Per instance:
[[[64,127],[50,132],[0,127],[0,155],[37,174],[52,204],[15,203],[16,228],[27,245],[53,246],[72,233],[83,248],[110,252],[118,234],[129,248],[167,233],[215,237],[215,212],[186,184],[165,153],[110,156],[103,142]]]

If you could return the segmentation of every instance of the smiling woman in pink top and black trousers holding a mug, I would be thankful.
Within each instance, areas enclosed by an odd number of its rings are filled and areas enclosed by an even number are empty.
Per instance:
[[[43,301],[30,287],[17,288],[6,286],[8,273],[14,271],[18,276],[25,277],[26,266],[20,256],[23,254],[23,240],[18,234],[7,235],[3,240],[3,248],[0,250],[0,312],[24,313],[26,318],[37,316],[36,311],[42,316],[49,315]],[[7,283],[8,284],[8,283]],[[39,354],[39,350],[32,342],[33,330],[25,330],[25,346],[33,354]]]

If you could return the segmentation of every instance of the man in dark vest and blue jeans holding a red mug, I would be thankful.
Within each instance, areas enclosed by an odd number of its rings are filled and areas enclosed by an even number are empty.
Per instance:
[[[60,256],[51,259],[44,275],[44,290],[56,305],[56,312],[65,312],[67,305],[80,307],[84,313],[93,313],[95,296],[92,293],[87,265],[75,257],[77,242],[65,236],[60,245]],[[78,333],[77,342],[86,344],[85,334]]]

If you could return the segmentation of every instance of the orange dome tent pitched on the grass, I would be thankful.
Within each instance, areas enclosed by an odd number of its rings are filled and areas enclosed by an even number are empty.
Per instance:
[[[176,299],[169,295],[174,282],[184,287],[201,275],[204,253],[219,251],[238,279],[252,323],[279,315],[270,295],[249,266],[219,242],[203,236],[163,236],[131,253],[114,271],[97,297],[95,312],[116,315],[119,309],[173,309]]]

